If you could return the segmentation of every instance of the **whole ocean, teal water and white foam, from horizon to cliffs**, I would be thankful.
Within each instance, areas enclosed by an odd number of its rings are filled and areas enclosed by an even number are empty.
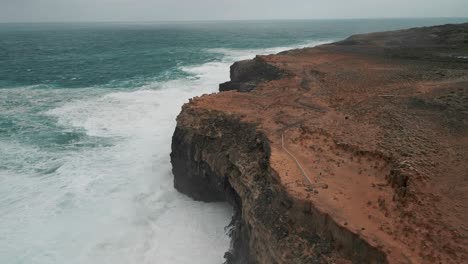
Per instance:
[[[466,21],[0,24],[0,263],[222,263],[232,209],[173,188],[182,104],[256,54]]]

